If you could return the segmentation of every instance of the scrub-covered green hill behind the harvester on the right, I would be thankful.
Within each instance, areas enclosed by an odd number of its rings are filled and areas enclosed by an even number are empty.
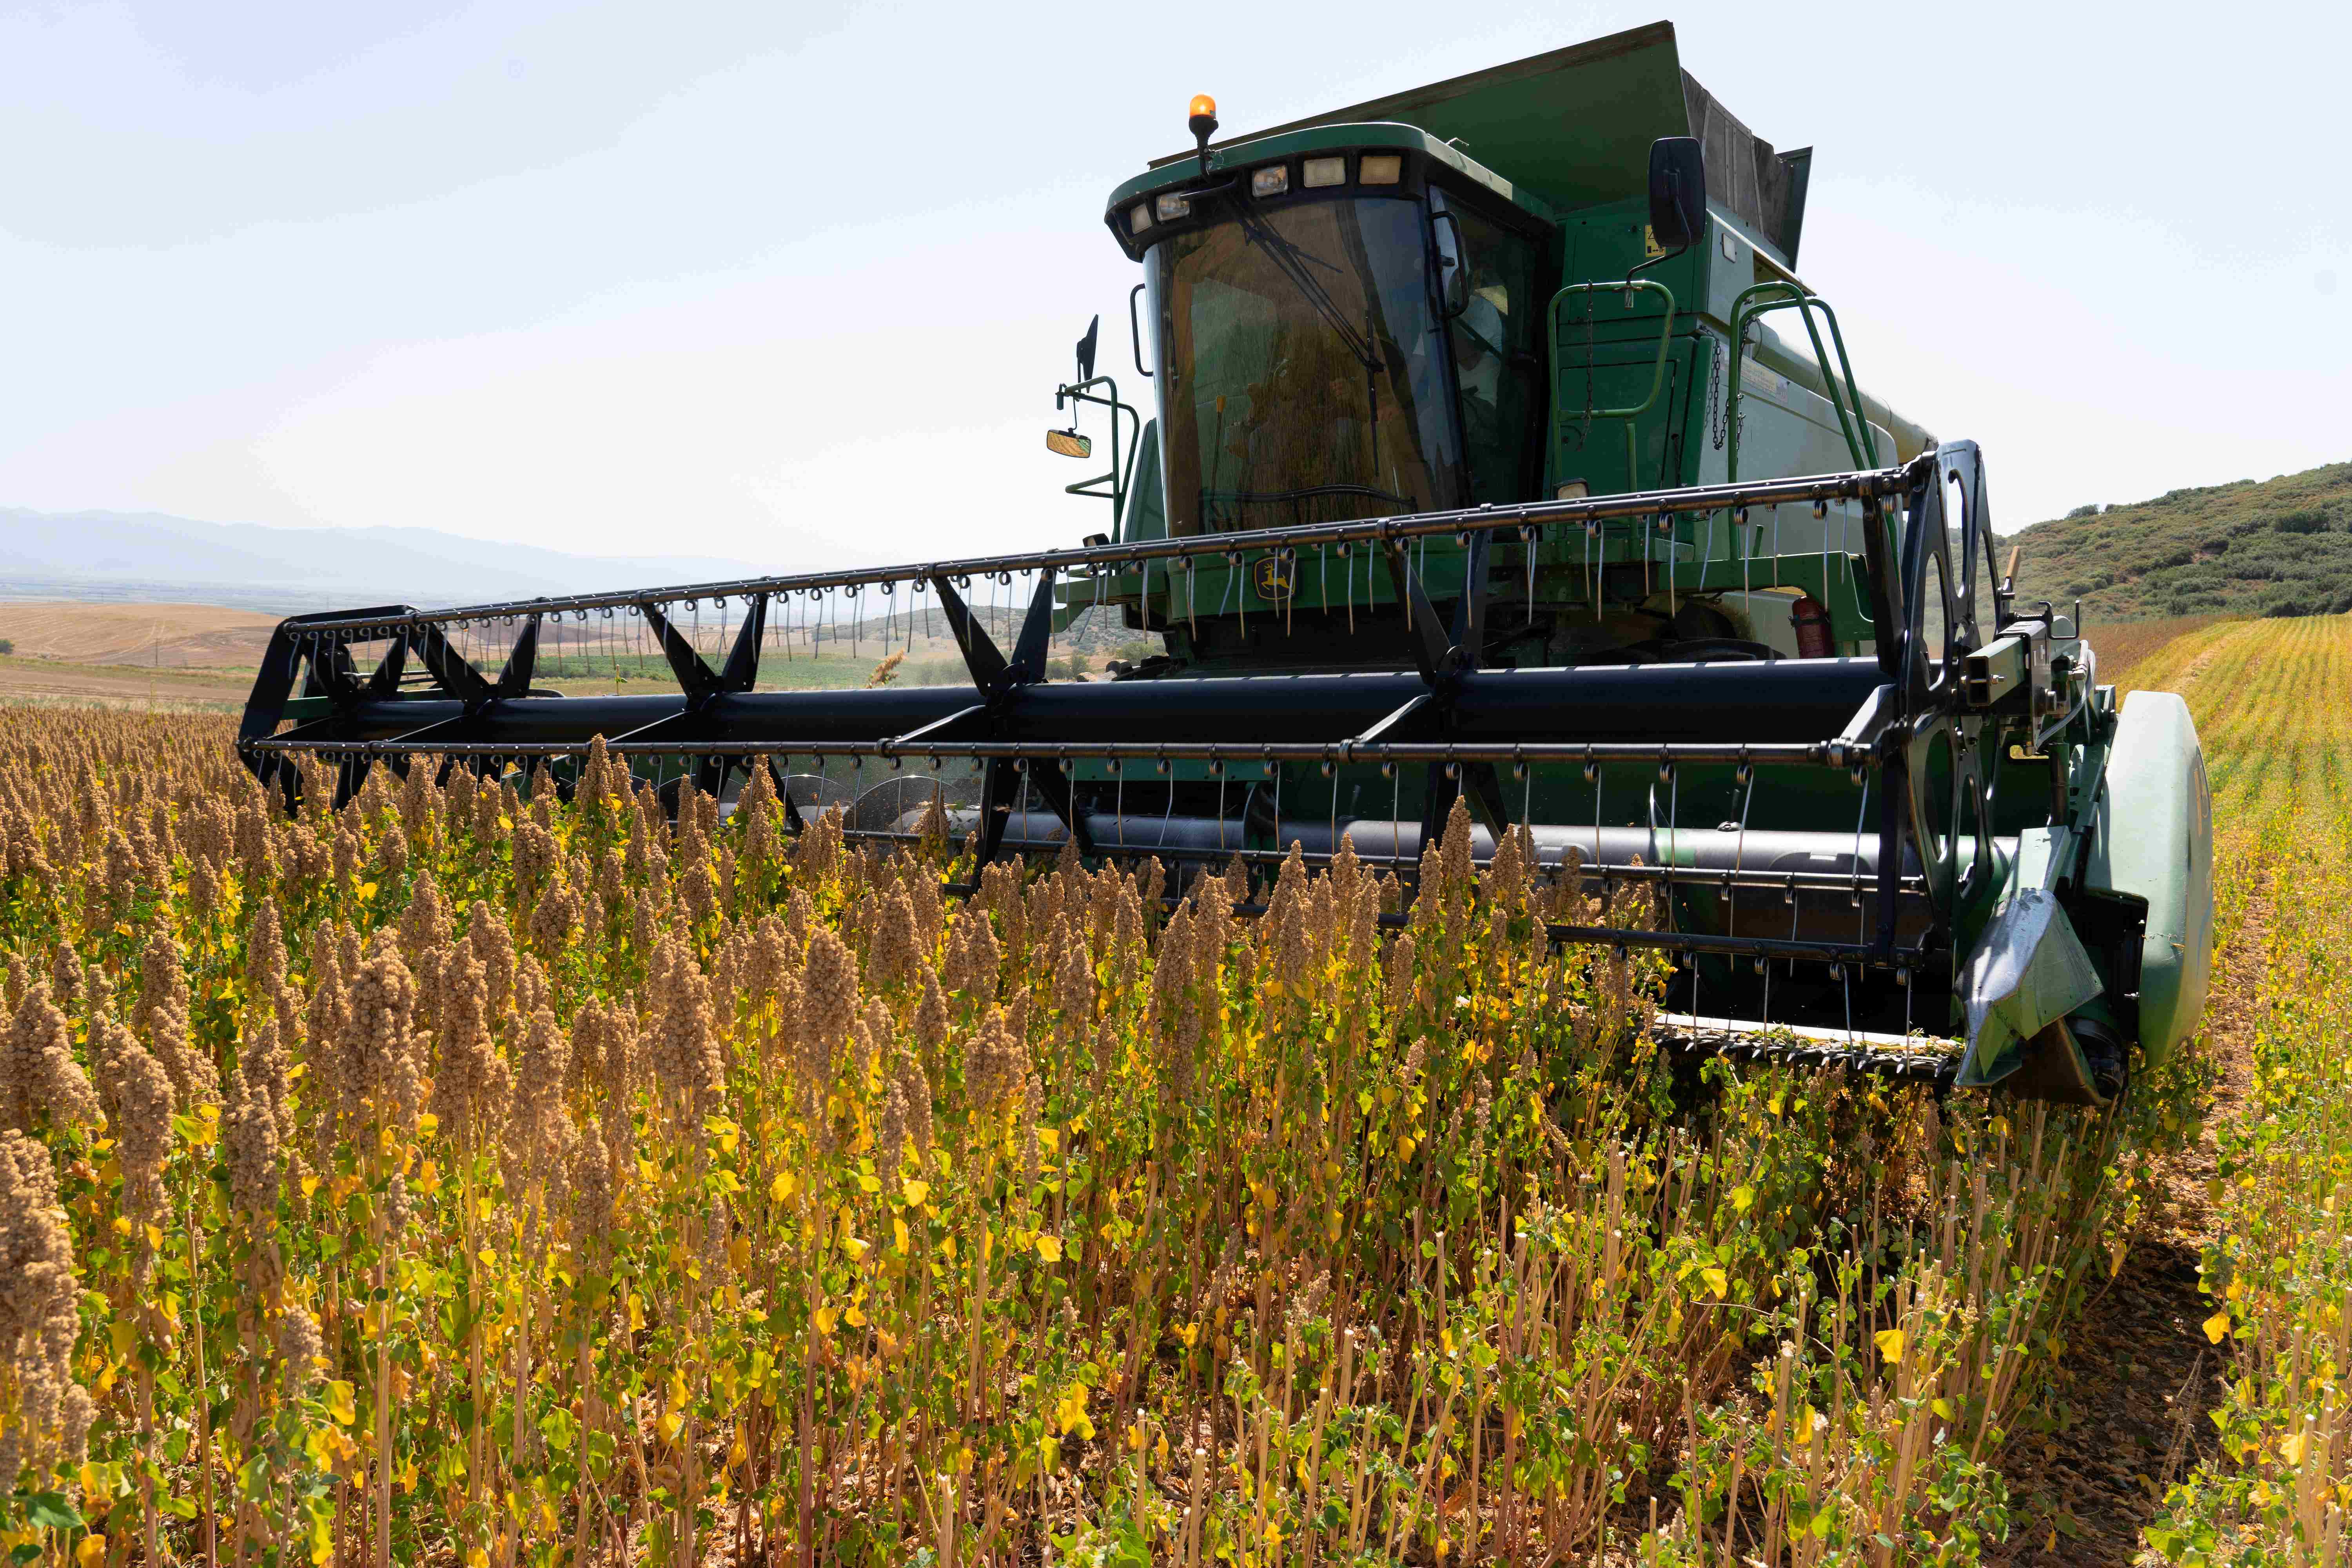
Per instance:
[[[2084,505],[2002,541],[2023,599],[2105,621],[2331,616],[2352,609],[2352,463]]]

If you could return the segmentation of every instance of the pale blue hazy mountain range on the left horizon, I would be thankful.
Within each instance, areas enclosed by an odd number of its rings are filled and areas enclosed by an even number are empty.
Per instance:
[[[569,555],[437,529],[266,529],[162,512],[0,508],[0,597],[160,597],[266,609],[433,607],[776,569],[708,555]]]

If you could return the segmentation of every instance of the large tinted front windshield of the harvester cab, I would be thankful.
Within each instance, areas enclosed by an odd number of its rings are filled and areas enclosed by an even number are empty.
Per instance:
[[[1463,505],[1421,202],[1244,207],[1150,282],[1174,534]]]

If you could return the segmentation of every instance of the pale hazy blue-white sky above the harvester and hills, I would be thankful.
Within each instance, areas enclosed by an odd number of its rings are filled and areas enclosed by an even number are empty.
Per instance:
[[[1073,541],[1089,315],[1136,383],[1103,197],[1192,92],[1235,134],[1661,14],[0,0],[0,505]],[[2352,5],[1668,14],[1816,148],[1802,273],[2004,527],[2352,456]]]

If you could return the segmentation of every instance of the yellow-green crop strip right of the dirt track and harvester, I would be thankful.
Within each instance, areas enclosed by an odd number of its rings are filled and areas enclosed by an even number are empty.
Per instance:
[[[2187,651],[2173,663],[2190,658]],[[2166,1495],[2147,1540],[2176,1563],[2326,1563],[2352,1505],[2352,987],[2343,983],[2352,813],[2338,703],[2345,623],[2272,621],[2194,651],[2223,766],[2216,813],[2249,882],[2270,884],[2249,997],[2246,1084],[2220,1126],[2204,1338],[2223,1368],[2218,1453]]]

